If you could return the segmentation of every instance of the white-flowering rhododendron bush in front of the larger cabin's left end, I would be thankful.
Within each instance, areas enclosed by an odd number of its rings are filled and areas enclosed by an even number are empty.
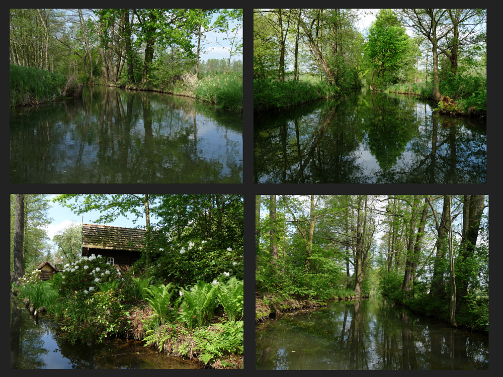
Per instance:
[[[65,296],[74,292],[93,293],[99,290],[100,284],[121,279],[121,273],[113,265],[107,264],[106,258],[95,254],[65,264],[61,275],[54,284],[58,292]]]

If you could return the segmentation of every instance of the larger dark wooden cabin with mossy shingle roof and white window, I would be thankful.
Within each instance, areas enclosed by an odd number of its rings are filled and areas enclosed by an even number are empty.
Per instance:
[[[82,256],[101,255],[119,271],[136,262],[144,246],[144,229],[82,224]]]

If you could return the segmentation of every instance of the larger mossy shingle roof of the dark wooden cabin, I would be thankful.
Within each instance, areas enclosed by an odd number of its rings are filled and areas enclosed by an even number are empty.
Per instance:
[[[144,229],[82,224],[82,247],[140,251],[144,245]]]

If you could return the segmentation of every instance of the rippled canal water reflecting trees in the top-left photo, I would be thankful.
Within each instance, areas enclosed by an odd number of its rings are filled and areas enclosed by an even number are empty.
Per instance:
[[[87,86],[10,112],[11,183],[241,183],[242,114]]]

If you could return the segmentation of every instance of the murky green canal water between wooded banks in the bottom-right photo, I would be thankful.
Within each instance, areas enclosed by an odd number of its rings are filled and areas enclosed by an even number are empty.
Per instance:
[[[488,343],[375,296],[259,324],[256,369],[488,369]]]

